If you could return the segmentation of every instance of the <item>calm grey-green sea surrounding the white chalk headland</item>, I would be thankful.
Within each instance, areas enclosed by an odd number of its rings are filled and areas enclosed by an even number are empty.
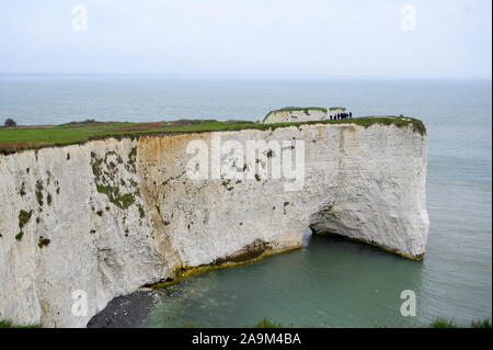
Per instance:
[[[428,134],[423,261],[340,238],[210,271],[169,289],[144,327],[406,327],[492,317],[491,80],[293,77],[0,76],[0,118],[19,124],[176,118],[260,120],[286,105],[422,118]],[[401,292],[417,315],[400,314]]]

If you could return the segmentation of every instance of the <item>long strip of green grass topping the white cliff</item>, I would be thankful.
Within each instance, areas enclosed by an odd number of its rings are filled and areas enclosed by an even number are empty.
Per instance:
[[[294,109],[294,108],[289,108]],[[312,109],[312,108],[309,108]],[[190,120],[157,123],[89,123],[44,126],[0,127],[0,154],[12,154],[23,149],[38,149],[66,145],[84,144],[92,139],[107,137],[137,138],[149,134],[202,133],[220,131],[240,131],[246,128],[275,129],[277,127],[300,126],[303,124],[357,124],[368,127],[372,124],[394,124],[403,126],[413,124],[414,129],[425,134],[420,120],[397,116],[365,116],[340,121],[311,121],[276,124],[259,124],[249,121]]]

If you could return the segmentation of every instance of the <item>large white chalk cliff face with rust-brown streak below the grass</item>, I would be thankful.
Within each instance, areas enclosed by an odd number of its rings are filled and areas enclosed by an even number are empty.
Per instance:
[[[268,177],[191,179],[187,145],[217,136],[302,140],[301,189]],[[238,171],[265,161],[228,157]],[[115,296],[300,247],[307,227],[421,258],[425,181],[426,136],[411,124],[108,138],[1,155],[0,319],[84,327]],[[87,313],[74,300],[81,291]]]

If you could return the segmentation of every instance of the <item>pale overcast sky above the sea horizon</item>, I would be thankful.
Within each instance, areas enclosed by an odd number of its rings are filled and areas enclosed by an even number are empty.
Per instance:
[[[482,78],[491,0],[0,0],[0,72]]]

